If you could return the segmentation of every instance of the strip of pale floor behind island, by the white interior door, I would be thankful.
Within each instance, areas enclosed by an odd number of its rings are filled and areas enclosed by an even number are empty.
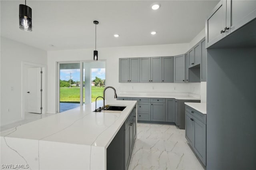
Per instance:
[[[9,128],[14,128],[14,127],[17,127],[19,125],[24,125],[26,123],[30,123],[32,121],[36,121],[38,119],[43,119],[43,118],[46,118],[46,117],[49,117],[49,116],[52,116],[52,115],[54,115],[54,114],[52,114],[52,113],[45,113],[45,114],[25,113],[25,119],[24,120],[1,126],[0,131],[2,132],[2,131],[7,130]]]

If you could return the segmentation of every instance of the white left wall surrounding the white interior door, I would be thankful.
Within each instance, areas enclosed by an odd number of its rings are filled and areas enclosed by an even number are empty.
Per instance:
[[[1,126],[22,119],[22,61],[46,65],[47,52],[1,37]]]

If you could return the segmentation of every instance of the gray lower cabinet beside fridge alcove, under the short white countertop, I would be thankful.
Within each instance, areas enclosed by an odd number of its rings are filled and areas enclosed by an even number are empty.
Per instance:
[[[185,136],[206,166],[206,115],[186,106]]]

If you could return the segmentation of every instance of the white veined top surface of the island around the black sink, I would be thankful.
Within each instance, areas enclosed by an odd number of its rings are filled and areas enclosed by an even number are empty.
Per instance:
[[[87,104],[2,131],[1,136],[107,148],[136,101],[113,101],[106,104],[126,108],[121,113],[93,112],[95,103]]]

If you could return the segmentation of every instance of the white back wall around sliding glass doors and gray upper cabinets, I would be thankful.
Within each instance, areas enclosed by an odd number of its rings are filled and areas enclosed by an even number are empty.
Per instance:
[[[167,45],[144,45],[130,47],[101,48],[98,50],[100,60],[106,61],[106,86],[122,91],[144,92],[186,92],[190,91],[188,83],[118,83],[118,58],[155,57],[182,54],[188,49],[188,43]],[[48,113],[56,112],[56,63],[57,61],[79,61],[93,59],[94,49],[76,49],[64,51],[48,51]],[[132,89],[132,86],[134,89]],[[154,89],[152,89],[154,86]],[[174,90],[173,87],[176,87]],[[200,94],[200,92],[198,93]],[[112,91],[107,91],[106,99],[112,99]]]

